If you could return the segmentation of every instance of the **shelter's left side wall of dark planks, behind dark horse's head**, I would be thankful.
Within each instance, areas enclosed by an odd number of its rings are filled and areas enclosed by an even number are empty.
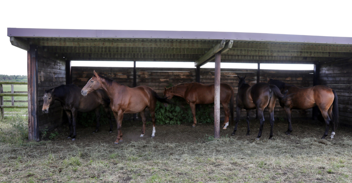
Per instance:
[[[55,59],[43,50],[38,50],[38,126],[42,131],[55,129],[62,123],[63,110],[60,102],[50,106],[49,113],[42,113],[45,90],[60,86],[66,82],[65,60]],[[65,114],[66,115],[66,114]]]

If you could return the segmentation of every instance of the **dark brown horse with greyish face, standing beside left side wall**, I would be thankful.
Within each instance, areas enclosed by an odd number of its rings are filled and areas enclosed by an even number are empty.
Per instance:
[[[110,100],[103,90],[97,90],[86,97],[81,95],[81,88],[74,84],[62,84],[61,86],[46,90],[43,96],[42,112],[48,114],[49,107],[57,100],[61,102],[70,127],[70,135],[68,138],[76,140],[76,121],[77,112],[89,112],[94,110],[96,115],[96,127],[93,133],[99,130],[100,112],[99,106],[102,105],[107,113],[110,123],[110,132],[112,132],[111,114],[109,111]],[[72,120],[71,120],[72,119]]]

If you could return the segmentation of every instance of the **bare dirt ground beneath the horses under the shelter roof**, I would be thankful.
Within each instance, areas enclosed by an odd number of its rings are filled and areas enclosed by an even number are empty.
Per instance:
[[[155,138],[151,139],[152,134],[152,124],[147,124],[144,137],[139,137],[142,130],[141,121],[123,121],[122,122],[122,134],[123,134],[123,143],[129,143],[131,141],[157,141],[161,143],[198,143],[207,140],[211,140],[214,137],[214,124],[201,124],[198,123],[195,128],[191,127],[192,123],[183,123],[181,125],[156,125]],[[220,122],[220,126],[222,122]],[[65,127],[65,126],[64,126]],[[82,145],[89,145],[94,143],[111,143],[113,144],[117,137],[116,124],[113,124],[113,132],[109,133],[108,124],[105,124],[100,127],[98,133],[92,133],[94,127],[77,127],[77,136],[76,141],[71,141],[67,139],[69,133],[68,128],[59,128],[59,136],[56,137],[55,143],[76,143]],[[238,140],[254,140],[259,131],[259,121],[256,119],[251,120],[250,122],[250,136],[246,136],[247,133],[247,124],[245,120],[241,120],[238,124],[238,130],[236,135],[231,136],[234,125],[227,127],[223,130],[220,128],[220,136],[228,138],[237,138]],[[274,123],[274,136],[273,139],[281,138],[291,140],[288,138],[288,135],[285,134],[285,131],[288,128],[287,121],[282,119],[277,119]],[[291,137],[296,136],[297,138],[304,137],[314,137],[317,140],[320,139],[325,130],[325,123],[320,121],[313,121],[310,119],[293,119],[292,120]],[[340,126],[335,130],[335,138],[339,136],[352,136],[352,128],[346,126]],[[260,139],[269,138],[270,133],[270,124],[269,121],[265,121],[262,137]],[[329,128],[328,136],[326,139],[330,138],[331,127]]]

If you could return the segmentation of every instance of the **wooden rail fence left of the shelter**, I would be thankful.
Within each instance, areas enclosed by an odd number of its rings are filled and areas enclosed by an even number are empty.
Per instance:
[[[4,91],[2,85],[11,84],[11,91]],[[15,102],[28,102],[27,100],[14,100],[15,96],[28,96],[27,91],[14,91],[14,84],[27,84],[22,81],[0,81],[0,115],[4,117],[4,108],[28,108],[27,106],[15,106]],[[4,100],[4,96],[11,96],[11,100]],[[5,106],[4,102],[11,102],[11,106]]]

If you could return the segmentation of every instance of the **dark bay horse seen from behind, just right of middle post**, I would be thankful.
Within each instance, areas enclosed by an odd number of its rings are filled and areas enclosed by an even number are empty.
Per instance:
[[[262,136],[263,126],[264,126],[264,115],[263,111],[265,107],[268,107],[269,116],[270,116],[270,136],[272,137],[272,131],[274,127],[274,107],[276,99],[285,99],[286,95],[281,94],[278,87],[275,85],[270,85],[268,83],[256,83],[253,86],[250,86],[246,83],[245,78],[238,76],[238,93],[236,96],[236,124],[235,128],[231,135],[235,135],[237,130],[237,124],[240,118],[241,109],[246,109],[247,111],[247,134],[249,135],[249,110],[257,109],[258,118],[260,120],[259,133],[257,136],[257,140],[259,140],[260,136]]]

